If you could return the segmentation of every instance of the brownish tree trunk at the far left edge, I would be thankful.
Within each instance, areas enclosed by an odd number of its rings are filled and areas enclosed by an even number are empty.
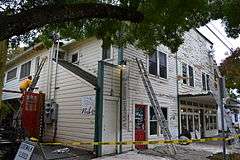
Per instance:
[[[0,108],[2,107],[2,89],[7,61],[7,40],[0,41]]]

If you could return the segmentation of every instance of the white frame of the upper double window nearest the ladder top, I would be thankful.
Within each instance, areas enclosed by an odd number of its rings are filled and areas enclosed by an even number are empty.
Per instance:
[[[148,70],[148,73],[149,73],[149,75],[157,76],[160,79],[166,80],[166,79],[168,79],[168,54],[165,53],[165,52],[162,52],[158,49],[156,51],[157,51],[157,75],[151,74],[149,72],[149,65],[150,65],[149,64],[149,60],[150,60],[149,55],[147,56],[147,70]],[[160,59],[159,59],[160,58],[160,52],[166,55],[166,72],[167,72],[167,74],[166,74],[167,77],[166,78],[160,76],[160,66],[159,66],[160,65]]]

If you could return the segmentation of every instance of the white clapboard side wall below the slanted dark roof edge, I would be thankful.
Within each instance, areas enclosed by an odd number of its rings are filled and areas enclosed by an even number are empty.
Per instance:
[[[55,62],[53,68],[55,68]],[[55,70],[54,70],[55,72]],[[55,73],[52,78],[52,92],[54,95]],[[82,114],[81,98],[94,97],[93,109],[95,110],[95,90],[90,83],[78,77],[71,71],[58,65],[56,101],[58,111],[58,141],[86,141],[94,140],[95,114]],[[84,146],[92,150],[93,146]]]

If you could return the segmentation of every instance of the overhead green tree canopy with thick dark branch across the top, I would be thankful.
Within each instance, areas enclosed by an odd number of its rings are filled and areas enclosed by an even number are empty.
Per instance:
[[[132,44],[153,53],[163,44],[176,52],[185,31],[211,19],[222,19],[228,36],[238,37],[239,15],[239,0],[1,0],[0,40],[6,40],[0,52],[5,58],[9,38],[12,44],[49,42],[52,31],[77,40],[96,36],[103,47]],[[1,59],[0,97],[5,62]]]

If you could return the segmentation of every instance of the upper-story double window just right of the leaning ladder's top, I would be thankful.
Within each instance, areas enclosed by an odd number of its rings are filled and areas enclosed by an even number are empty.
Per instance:
[[[149,73],[167,79],[167,55],[155,52],[149,57]]]

